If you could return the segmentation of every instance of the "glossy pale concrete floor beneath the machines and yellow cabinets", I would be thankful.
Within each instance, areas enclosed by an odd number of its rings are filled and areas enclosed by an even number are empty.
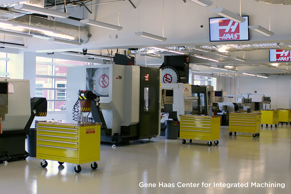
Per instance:
[[[101,145],[98,169],[82,164],[81,173],[74,165],[48,161],[47,168],[40,160],[0,164],[0,193],[290,193],[291,189],[291,127],[263,127],[261,135],[249,133],[229,136],[228,127],[221,127],[219,145],[207,146],[207,141],[164,137],[139,140],[128,144]],[[139,183],[156,183],[156,188],[141,188]],[[174,184],[173,188],[159,187],[160,183]],[[198,187],[177,187],[177,183],[199,183]],[[211,183],[202,187],[202,182]],[[217,188],[215,183],[247,183],[248,188]],[[284,183],[285,188],[255,188],[256,183]]]

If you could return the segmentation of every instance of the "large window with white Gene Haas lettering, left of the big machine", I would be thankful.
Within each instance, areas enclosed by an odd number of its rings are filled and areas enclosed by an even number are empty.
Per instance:
[[[36,97],[47,99],[47,111],[66,110],[67,67],[85,62],[36,57]]]

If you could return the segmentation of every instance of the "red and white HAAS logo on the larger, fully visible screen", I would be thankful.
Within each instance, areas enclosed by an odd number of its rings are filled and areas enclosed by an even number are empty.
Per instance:
[[[240,24],[232,20],[219,20],[219,40],[240,40]]]

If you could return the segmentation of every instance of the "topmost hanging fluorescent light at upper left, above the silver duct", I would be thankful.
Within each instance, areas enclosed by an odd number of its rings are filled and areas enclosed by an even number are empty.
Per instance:
[[[61,18],[67,18],[70,16],[70,13],[63,13],[55,10],[49,10],[41,7],[36,7],[36,6],[30,6],[26,4],[18,4],[13,7],[16,10],[22,10],[22,11],[29,11],[32,13],[39,13],[42,15],[47,15],[47,16],[53,16],[53,17],[61,17]]]

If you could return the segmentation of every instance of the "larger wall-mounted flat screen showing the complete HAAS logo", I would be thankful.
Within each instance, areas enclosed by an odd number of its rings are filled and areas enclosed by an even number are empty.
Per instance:
[[[225,17],[209,18],[210,41],[249,40],[248,16],[241,23]]]

